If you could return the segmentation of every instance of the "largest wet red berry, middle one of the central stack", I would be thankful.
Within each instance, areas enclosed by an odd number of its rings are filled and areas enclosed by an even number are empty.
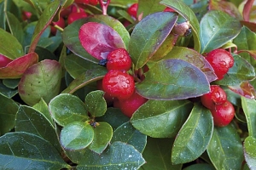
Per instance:
[[[102,88],[112,97],[128,99],[134,93],[135,82],[125,71],[112,70],[102,79]]]

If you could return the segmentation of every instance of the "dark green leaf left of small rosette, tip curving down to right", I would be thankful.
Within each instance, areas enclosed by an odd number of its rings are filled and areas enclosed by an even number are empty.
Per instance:
[[[42,113],[32,107],[20,105],[15,119],[15,131],[32,133],[48,140],[61,153],[61,145],[55,133],[55,127]]]

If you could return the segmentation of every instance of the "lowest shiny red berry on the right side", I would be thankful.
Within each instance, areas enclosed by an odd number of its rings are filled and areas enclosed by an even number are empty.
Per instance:
[[[211,112],[214,125],[217,127],[227,126],[235,116],[234,106],[228,100],[224,104],[215,105]]]

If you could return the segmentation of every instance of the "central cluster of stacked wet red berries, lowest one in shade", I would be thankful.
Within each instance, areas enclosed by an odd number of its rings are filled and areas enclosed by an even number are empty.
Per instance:
[[[107,56],[108,73],[97,82],[107,102],[113,102],[114,107],[129,117],[148,100],[136,93],[134,78],[127,72],[131,65],[129,53],[124,48],[115,49]]]

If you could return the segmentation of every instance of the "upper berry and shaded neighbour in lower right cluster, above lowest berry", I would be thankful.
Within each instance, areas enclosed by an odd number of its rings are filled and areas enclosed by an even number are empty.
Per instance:
[[[224,104],[226,100],[227,95],[224,89],[220,88],[218,85],[211,85],[210,92],[201,96],[202,105],[210,110],[213,109],[215,105]]]

